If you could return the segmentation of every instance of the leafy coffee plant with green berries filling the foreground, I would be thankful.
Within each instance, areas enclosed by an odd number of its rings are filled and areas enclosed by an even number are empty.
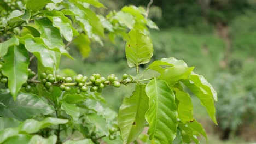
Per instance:
[[[194,67],[170,57],[139,70],[153,56],[148,27],[158,29],[148,10],[131,5],[97,15],[98,8],[106,10],[97,0],[3,0],[0,8],[0,143],[199,143],[200,136],[207,141],[184,89],[217,124],[217,93]],[[61,56],[73,59],[72,42],[86,57],[90,42],[103,46],[104,37],[126,40],[127,64],[137,75],[60,73]],[[152,71],[152,77],[144,76]],[[121,85],[135,90],[117,114],[100,93]],[[148,135],[142,133],[147,129]]]

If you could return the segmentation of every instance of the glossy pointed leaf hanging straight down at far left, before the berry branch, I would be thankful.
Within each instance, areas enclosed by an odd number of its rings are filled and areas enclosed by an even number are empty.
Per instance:
[[[27,81],[29,59],[24,45],[9,47],[7,55],[4,56],[5,65],[2,73],[8,77],[8,88],[14,100],[22,84]]]

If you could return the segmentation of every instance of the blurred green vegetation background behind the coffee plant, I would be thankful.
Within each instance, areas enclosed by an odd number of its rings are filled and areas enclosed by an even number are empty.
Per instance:
[[[124,5],[147,7],[149,3],[144,0],[101,2],[109,8],[98,9],[101,14],[113,9],[119,11]],[[195,72],[204,75],[218,92],[218,126],[193,97],[195,118],[206,128],[209,143],[256,142],[256,1],[154,0],[149,18],[160,28],[150,31],[154,44],[152,61],[162,57],[183,59],[189,66],[195,66]],[[84,75],[114,73],[119,77],[123,73],[136,73],[127,67],[125,41],[121,38],[113,44],[106,37],[104,46],[91,43],[90,55],[85,59],[75,45],[70,47],[76,60],[62,57],[61,69],[73,69]],[[111,87],[102,95],[118,112],[122,99],[132,91],[133,86]]]

